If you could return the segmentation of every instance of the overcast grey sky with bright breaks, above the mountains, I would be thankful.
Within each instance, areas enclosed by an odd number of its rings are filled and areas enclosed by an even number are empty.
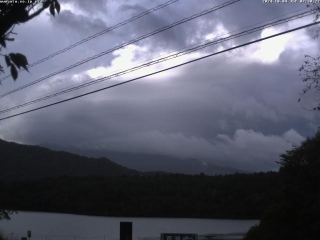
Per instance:
[[[59,0],[53,17],[42,12],[15,27],[7,52],[34,62],[165,0]],[[9,91],[157,28],[223,3],[179,0],[94,38],[2,82]],[[241,0],[0,98],[0,108],[306,7],[305,3]],[[298,11],[296,13],[299,13]],[[295,14],[296,14],[295,13]],[[293,14],[293,13],[291,13]],[[287,16],[287,15],[286,15]],[[286,17],[286,16],[282,16]],[[305,17],[213,45],[185,56],[60,95],[0,117],[62,100],[224,48],[312,22]],[[269,20],[269,21],[274,21]],[[267,21],[267,22],[269,22]],[[263,22],[261,24],[265,24]],[[247,170],[276,170],[278,155],[314,135],[316,95],[297,102],[304,54],[319,39],[304,28],[205,58],[163,73],[0,121],[0,138],[124,152],[195,157]],[[6,51],[2,51],[5,53]],[[0,59],[1,65],[5,65]],[[6,73],[9,72],[5,68]],[[3,75],[1,75],[3,76]]]

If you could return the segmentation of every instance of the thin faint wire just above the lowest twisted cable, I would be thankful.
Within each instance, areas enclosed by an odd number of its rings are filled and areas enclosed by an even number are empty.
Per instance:
[[[266,19],[266,20],[257,22],[257,23],[255,23],[255,24],[251,24],[251,25],[242,27],[242,28],[237,29],[237,30],[233,30],[233,31],[231,31],[231,32],[223,33],[223,34],[221,34],[221,35],[218,35],[218,36],[215,36],[215,37],[212,37],[212,38],[203,40],[203,41],[199,41],[199,42],[193,43],[193,44],[191,44],[191,45],[188,45],[188,46],[185,46],[185,47],[182,47],[182,48],[179,48],[179,49],[170,51],[170,52],[168,52],[168,53],[164,53],[164,54],[161,54],[161,55],[158,55],[158,56],[155,56],[155,57],[152,57],[152,58],[149,58],[149,59],[146,59],[146,60],[137,62],[137,63],[133,64],[133,66],[138,65],[138,64],[141,64],[141,63],[143,63],[143,62],[147,62],[147,61],[149,61],[149,60],[152,60],[152,59],[155,59],[155,58],[158,58],[158,57],[161,57],[161,56],[164,56],[164,55],[168,55],[168,54],[170,54],[170,53],[173,53],[173,52],[176,52],[176,51],[185,49],[185,48],[190,47],[190,46],[195,46],[195,45],[200,44],[200,43],[202,43],[202,42],[208,42],[208,41],[210,41],[210,40],[212,40],[212,39],[216,39],[216,38],[218,38],[218,37],[220,37],[220,36],[224,36],[224,35],[227,35],[227,34],[231,34],[231,33],[233,33],[233,32],[237,32],[237,31],[239,31],[239,30],[246,29],[246,28],[248,28],[248,27],[255,26],[255,25],[257,25],[257,24],[260,24],[260,23],[263,23],[263,22],[266,22],[266,21],[269,21],[269,20],[273,20],[273,19],[279,18],[279,17],[281,17],[281,16],[289,15],[289,14],[292,14],[292,13],[294,13],[294,12],[298,12],[298,11],[304,10],[304,9],[306,9],[306,8],[308,8],[308,7],[303,7],[303,8],[300,8],[300,9],[298,9],[298,10],[294,10],[294,11],[291,11],[291,12],[288,12],[288,13],[285,13],[285,14],[282,14],[282,15],[279,15],[279,16],[276,16],[276,17],[268,18],[268,19]],[[117,71],[120,71],[120,70],[122,70],[122,69],[123,69],[123,68],[120,68],[120,69],[111,71],[111,72],[109,72],[109,73],[117,72]],[[20,105],[20,104],[22,104],[22,103],[29,102],[29,101],[31,101],[31,100],[33,100],[33,99],[38,99],[38,98],[40,98],[40,97],[42,97],[42,96],[47,96],[48,94],[53,94],[54,92],[62,91],[62,90],[67,89],[67,88],[69,88],[69,87],[76,86],[76,85],[80,85],[81,83],[83,84],[84,82],[88,82],[88,81],[90,81],[90,80],[93,80],[93,79],[95,79],[95,78],[99,78],[99,77],[102,77],[102,76],[105,76],[105,75],[106,75],[106,74],[102,74],[102,75],[100,75],[100,76],[92,77],[92,78],[90,78],[90,79],[87,79],[87,80],[84,80],[84,81],[81,81],[81,82],[78,82],[78,83],[75,83],[75,84],[72,84],[72,85],[69,85],[69,86],[66,86],[66,87],[63,87],[63,88],[60,88],[60,89],[51,91],[51,92],[48,92],[48,93],[45,93],[45,94],[42,94],[42,95],[40,95],[40,96],[33,97],[33,98],[29,98],[29,99],[27,99],[27,100],[20,101],[20,102],[18,102],[18,103],[12,104],[12,105],[9,105],[9,106],[6,106],[6,107],[2,107],[2,108],[0,108],[0,113],[2,112],[2,110],[6,110],[6,109],[9,108],[9,107],[18,106],[18,105]],[[16,108],[15,108],[15,109],[16,109]]]

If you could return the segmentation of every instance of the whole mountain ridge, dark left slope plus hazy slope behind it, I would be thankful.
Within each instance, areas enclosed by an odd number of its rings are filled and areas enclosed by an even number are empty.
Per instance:
[[[0,179],[21,180],[54,176],[119,176],[168,173],[207,175],[243,173],[195,158],[180,159],[164,155],[126,152],[90,152],[52,149],[0,139]],[[61,147],[60,147],[61,148]],[[107,155],[107,157],[105,157]],[[112,160],[110,160],[112,159]]]

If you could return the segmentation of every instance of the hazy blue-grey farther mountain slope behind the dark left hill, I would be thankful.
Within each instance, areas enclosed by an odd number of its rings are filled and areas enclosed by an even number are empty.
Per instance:
[[[165,171],[184,174],[199,174],[200,172],[203,172],[207,175],[232,174],[235,172],[249,173],[249,171],[218,166],[195,158],[182,159],[158,154],[129,153],[96,149],[90,150],[76,147],[62,147],[50,144],[43,145],[50,149],[65,150],[88,157],[106,156],[122,166],[139,171]]]

